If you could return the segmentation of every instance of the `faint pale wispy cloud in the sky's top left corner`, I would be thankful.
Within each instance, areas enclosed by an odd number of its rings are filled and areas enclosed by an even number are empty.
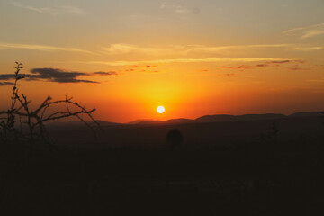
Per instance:
[[[35,7],[18,2],[12,2],[11,4],[15,7],[38,12],[40,14],[86,14],[85,10],[75,6],[61,5],[57,7]]]

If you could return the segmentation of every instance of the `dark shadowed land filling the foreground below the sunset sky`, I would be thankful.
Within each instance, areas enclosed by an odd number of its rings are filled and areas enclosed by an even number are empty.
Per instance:
[[[182,131],[182,148],[166,133]],[[322,215],[324,124],[273,121],[51,128],[1,146],[1,215]],[[92,141],[91,141],[92,140]]]

